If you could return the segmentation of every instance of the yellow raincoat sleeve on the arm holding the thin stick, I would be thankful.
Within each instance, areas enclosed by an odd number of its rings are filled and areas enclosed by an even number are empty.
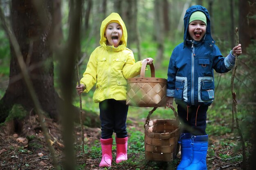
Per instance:
[[[88,91],[91,90],[91,88],[94,86],[94,84],[97,81],[97,53],[95,49],[92,54],[90,55],[87,67],[85,72],[83,73],[83,78],[81,78],[80,83],[83,83],[85,85],[84,92],[88,93]]]

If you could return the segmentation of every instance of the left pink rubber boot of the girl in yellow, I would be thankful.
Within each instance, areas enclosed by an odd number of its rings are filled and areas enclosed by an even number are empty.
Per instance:
[[[110,167],[112,162],[112,142],[113,139],[101,139],[102,159],[99,167]]]

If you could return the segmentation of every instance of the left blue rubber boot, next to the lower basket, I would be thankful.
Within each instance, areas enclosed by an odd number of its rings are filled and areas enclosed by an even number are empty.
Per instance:
[[[180,141],[178,141],[181,146],[181,161],[177,166],[177,170],[184,170],[184,168],[188,167],[192,162],[192,139],[190,133],[181,133]]]

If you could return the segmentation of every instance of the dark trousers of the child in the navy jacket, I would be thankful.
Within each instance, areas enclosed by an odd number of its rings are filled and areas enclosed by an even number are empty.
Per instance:
[[[206,118],[208,106],[190,106],[185,104],[177,105],[177,112],[182,123],[182,131],[192,135],[206,135]],[[197,112],[197,114],[196,114]]]

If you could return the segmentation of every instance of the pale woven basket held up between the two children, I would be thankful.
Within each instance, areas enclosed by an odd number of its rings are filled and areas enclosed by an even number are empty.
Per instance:
[[[155,77],[155,68],[150,64],[151,77],[145,77],[147,61],[142,63],[140,77],[127,79],[126,104],[137,107],[166,106],[167,80]]]

